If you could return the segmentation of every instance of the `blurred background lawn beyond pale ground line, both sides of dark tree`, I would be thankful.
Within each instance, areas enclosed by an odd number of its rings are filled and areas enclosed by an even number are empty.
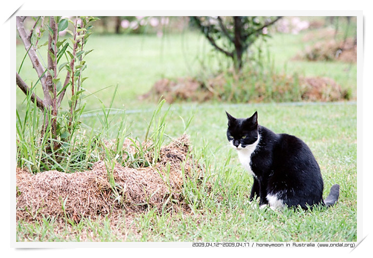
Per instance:
[[[271,61],[278,72],[301,76],[330,77],[343,89],[351,89],[356,98],[357,66],[343,62],[294,61],[292,57],[304,49],[306,43],[301,36],[276,34],[268,39],[267,48]],[[84,101],[86,110],[99,109],[100,99],[108,106],[115,86],[118,86],[114,108],[129,109],[139,106],[138,96],[148,92],[161,78],[177,78],[212,74],[229,61],[211,50],[203,36],[185,32],[169,34],[164,38],[155,35],[95,35],[88,41],[86,49],[94,49],[87,55],[88,68],[84,77],[87,90]],[[43,52],[45,49],[41,49]],[[22,45],[17,45],[17,69],[26,53]],[[267,54],[265,54],[267,55]],[[31,85],[37,80],[36,73],[26,57],[20,76]],[[97,94],[90,95],[99,91]],[[24,94],[17,88],[17,108],[22,110]],[[69,94],[69,91],[67,92]],[[141,106],[154,107],[154,103]]]

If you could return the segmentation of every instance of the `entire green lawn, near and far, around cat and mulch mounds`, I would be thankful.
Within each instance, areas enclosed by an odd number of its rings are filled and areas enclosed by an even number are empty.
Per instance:
[[[302,35],[275,35],[268,40],[279,71],[305,76],[326,76],[356,97],[356,64],[341,62],[294,61],[291,57],[304,48]],[[88,46],[87,46],[88,47]],[[199,34],[185,32],[155,35],[92,35],[87,55],[84,87],[86,110],[82,124],[99,130],[102,104],[112,107],[110,130],[106,138],[117,135],[117,124],[125,110],[127,132],[144,139],[148,122],[157,103],[139,101],[155,81],[210,73],[218,66],[210,45]],[[17,69],[25,54],[17,46]],[[218,59],[218,60],[217,60]],[[201,63],[204,66],[201,67]],[[208,66],[206,66],[208,64]],[[209,67],[206,69],[206,67]],[[36,81],[26,58],[21,76]],[[111,87],[109,87],[111,86]],[[23,93],[17,89],[17,110],[23,114]],[[100,101],[98,101],[98,99]],[[188,192],[194,198],[189,213],[158,214],[149,208],[141,214],[124,213],[114,224],[110,217],[83,219],[79,223],[60,223],[53,218],[29,223],[18,221],[17,241],[356,241],[357,238],[357,110],[355,102],[338,103],[174,103],[166,117],[165,142],[185,131],[190,135],[193,154],[209,166],[204,178],[212,189]],[[341,186],[339,202],[330,209],[312,212],[284,212],[253,209],[247,204],[253,178],[239,164],[226,140],[225,110],[236,117],[251,116],[256,110],[259,123],[276,133],[301,138],[312,149],[322,170],[324,197],[334,183]],[[190,189],[194,185],[189,185]],[[192,196],[194,195],[194,196]],[[116,220],[117,221],[117,220]]]

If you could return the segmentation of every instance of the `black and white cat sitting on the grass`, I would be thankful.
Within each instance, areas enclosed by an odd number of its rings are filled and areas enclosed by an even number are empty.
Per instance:
[[[258,113],[235,118],[228,112],[227,138],[243,167],[254,176],[250,201],[259,197],[259,205],[271,209],[314,205],[334,205],[339,185],[334,184],[323,200],[320,167],[308,146],[295,136],[275,134],[258,124]]]

